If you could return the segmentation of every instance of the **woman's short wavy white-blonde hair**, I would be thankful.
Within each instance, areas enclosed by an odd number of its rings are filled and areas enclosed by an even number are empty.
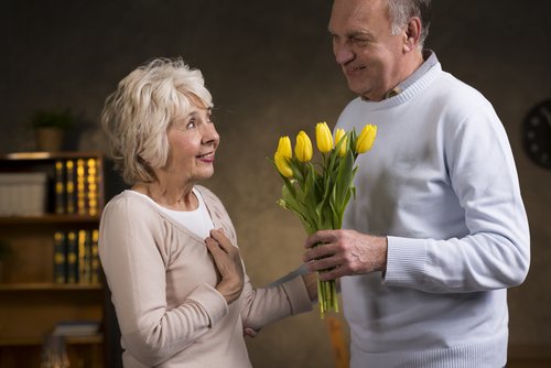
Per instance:
[[[201,71],[182,58],[155,58],[125,77],[101,112],[115,169],[127,184],[153,182],[169,156],[171,122],[197,104],[213,107]]]

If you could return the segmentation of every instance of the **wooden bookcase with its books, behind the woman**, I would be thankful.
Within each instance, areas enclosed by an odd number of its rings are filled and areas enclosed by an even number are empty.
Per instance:
[[[104,159],[99,152],[2,154],[0,177],[0,242],[9,249],[7,257],[0,252],[0,367],[36,366],[44,337],[60,322],[105,325],[97,258]],[[25,177],[43,180],[17,182]],[[65,337],[75,366],[105,366],[102,328]]]

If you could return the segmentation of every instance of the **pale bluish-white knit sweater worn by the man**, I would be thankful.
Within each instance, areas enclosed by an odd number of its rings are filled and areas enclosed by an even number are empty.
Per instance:
[[[385,274],[342,280],[352,367],[504,367],[507,288],[528,272],[528,221],[491,105],[436,63],[400,95],[360,98],[338,128],[378,127],[345,228],[388,236]]]

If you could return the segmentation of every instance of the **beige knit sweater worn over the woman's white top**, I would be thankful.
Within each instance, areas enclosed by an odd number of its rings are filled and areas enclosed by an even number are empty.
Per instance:
[[[236,231],[220,201],[196,186],[215,228],[234,245]],[[122,334],[129,367],[251,367],[242,327],[260,328],[310,311],[301,277],[253,289],[246,274],[228,305],[204,239],[129,191],[114,197],[100,223],[99,257]],[[267,260],[269,261],[269,260]]]

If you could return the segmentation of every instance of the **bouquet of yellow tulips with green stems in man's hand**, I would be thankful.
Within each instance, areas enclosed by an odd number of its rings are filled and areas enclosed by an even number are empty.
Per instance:
[[[355,130],[337,129],[333,139],[327,123],[320,122],[315,138],[322,160],[315,164],[311,162],[312,141],[304,131],[296,136],[294,156],[289,137],[279,139],[273,164],[283,180],[283,188],[278,204],[295,213],[309,235],[342,227],[346,205],[355,195],[356,159],[371,149],[376,134],[377,127],[367,125],[359,136]],[[322,318],[327,311],[338,312],[336,294],[334,280],[317,281]]]

